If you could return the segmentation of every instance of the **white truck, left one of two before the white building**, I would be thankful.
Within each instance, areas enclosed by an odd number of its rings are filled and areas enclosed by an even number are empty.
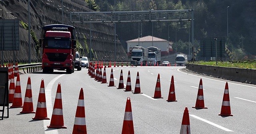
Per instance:
[[[136,61],[137,65],[146,65],[148,61],[148,49],[140,46],[132,47],[131,53],[132,60]]]

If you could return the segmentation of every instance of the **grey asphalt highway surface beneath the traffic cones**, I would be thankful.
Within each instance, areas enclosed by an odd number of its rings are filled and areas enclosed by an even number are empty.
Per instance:
[[[66,74],[65,71],[43,74],[40,71],[20,75],[22,101],[24,101],[28,77],[31,77],[34,110],[38,102],[40,83],[44,79],[48,118],[52,117],[57,85],[61,84],[63,118],[67,128],[47,128],[50,120],[33,120],[32,117],[35,114],[20,114],[22,108],[10,108],[10,117],[0,120],[0,134],[71,134],[81,88],[84,90],[88,134],[120,134],[127,97],[131,100],[136,134],[179,134],[185,107],[188,107],[190,130],[193,134],[254,134],[256,132],[254,123],[256,85],[198,75],[185,71],[184,67],[138,66],[112,67],[112,69],[116,87],[108,87],[111,68],[106,68],[108,83],[104,84],[90,78],[87,74],[88,69],[85,68],[72,74]],[[140,89],[143,94],[133,94],[124,92],[124,89],[117,89],[121,69],[124,85],[130,71],[132,90],[135,88],[136,74],[139,72]],[[163,99],[152,98],[158,73]],[[166,101],[172,75],[177,102]],[[204,104],[207,109],[192,108],[196,104],[201,78]],[[222,107],[226,82],[229,87],[231,113],[234,116],[218,115]]]

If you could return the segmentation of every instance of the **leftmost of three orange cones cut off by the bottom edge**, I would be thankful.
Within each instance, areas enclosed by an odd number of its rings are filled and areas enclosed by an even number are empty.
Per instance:
[[[72,134],[87,134],[84,108],[84,91],[80,90]]]

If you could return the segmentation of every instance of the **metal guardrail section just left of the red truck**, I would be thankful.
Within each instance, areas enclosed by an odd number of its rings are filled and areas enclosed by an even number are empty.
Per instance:
[[[13,67],[15,69],[15,66]],[[24,73],[32,73],[36,71],[42,70],[42,63],[33,63],[33,64],[24,64],[24,65],[18,65],[19,73],[22,69]],[[26,70],[26,71],[25,71]]]

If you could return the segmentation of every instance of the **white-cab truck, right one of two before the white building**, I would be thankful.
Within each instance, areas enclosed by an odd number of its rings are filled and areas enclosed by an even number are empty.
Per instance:
[[[148,47],[148,65],[160,65],[161,49],[157,47]]]

